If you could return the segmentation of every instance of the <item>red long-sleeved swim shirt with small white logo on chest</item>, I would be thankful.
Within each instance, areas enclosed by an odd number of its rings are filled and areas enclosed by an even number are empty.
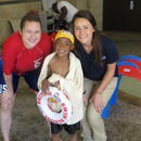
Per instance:
[[[11,75],[12,72],[22,75],[34,70],[42,64],[52,50],[51,37],[46,33],[42,33],[40,41],[28,50],[25,48],[20,33],[16,31],[2,46],[3,72],[7,75]]]

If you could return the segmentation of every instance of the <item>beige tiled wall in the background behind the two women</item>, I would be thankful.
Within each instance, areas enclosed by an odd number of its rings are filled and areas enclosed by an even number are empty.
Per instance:
[[[102,30],[103,0],[66,1],[74,4],[78,10],[90,10],[97,20],[98,28]],[[22,18],[22,16],[25,15],[26,12],[31,9],[42,10],[41,1],[0,5],[0,44],[7,37],[9,37],[12,34],[12,28],[8,21]]]

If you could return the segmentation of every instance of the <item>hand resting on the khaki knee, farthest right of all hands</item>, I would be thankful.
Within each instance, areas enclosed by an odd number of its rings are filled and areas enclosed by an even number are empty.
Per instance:
[[[97,112],[102,112],[103,107],[104,107],[104,103],[102,100],[102,94],[95,92],[92,98],[89,100],[89,102],[93,102],[93,105],[95,107]]]

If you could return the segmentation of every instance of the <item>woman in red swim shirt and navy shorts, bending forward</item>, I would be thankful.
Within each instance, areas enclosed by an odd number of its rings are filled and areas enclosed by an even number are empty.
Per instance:
[[[4,141],[10,141],[12,107],[18,78],[24,77],[29,88],[38,92],[37,80],[44,57],[53,50],[49,35],[41,31],[38,11],[28,12],[21,21],[20,30],[2,44],[0,72],[1,130]],[[2,75],[3,74],[3,75]]]

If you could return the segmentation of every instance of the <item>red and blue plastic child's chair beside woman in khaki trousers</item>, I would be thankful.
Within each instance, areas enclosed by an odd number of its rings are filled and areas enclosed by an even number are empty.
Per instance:
[[[112,94],[112,98],[110,99],[106,106],[101,113],[102,118],[108,118],[111,104],[115,105],[117,103],[117,93],[123,76],[132,77],[141,81],[141,59],[139,56],[133,55],[123,56],[120,61],[117,63],[117,66],[119,74],[117,86],[114,90],[114,93]]]

